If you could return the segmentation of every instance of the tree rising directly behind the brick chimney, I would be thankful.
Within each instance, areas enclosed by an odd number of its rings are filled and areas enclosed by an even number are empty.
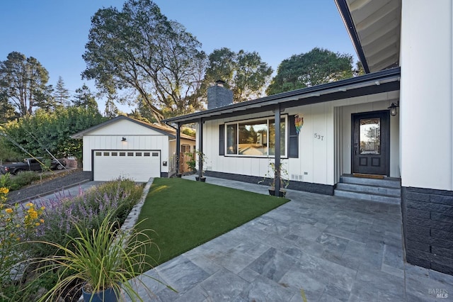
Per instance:
[[[236,53],[223,47],[209,56],[204,86],[222,79],[233,91],[234,102],[238,103],[261,96],[272,73],[272,67],[261,61],[258,52],[239,50]]]

